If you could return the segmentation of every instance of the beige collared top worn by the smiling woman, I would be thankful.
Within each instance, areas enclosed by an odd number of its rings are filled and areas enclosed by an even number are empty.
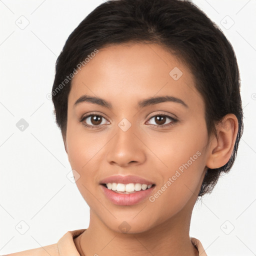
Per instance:
[[[2,256],[80,256],[79,252],[77,251],[73,238],[80,235],[86,229],[76,229],[72,231],[67,231],[58,241],[57,243],[29,249],[23,250],[20,252],[15,252],[7,255]],[[198,249],[200,256],[207,256],[205,253],[201,242],[194,238],[190,237],[192,244]]]

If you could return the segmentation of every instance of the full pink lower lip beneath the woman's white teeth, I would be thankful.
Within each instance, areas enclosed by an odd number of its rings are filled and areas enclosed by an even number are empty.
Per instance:
[[[124,194],[124,193],[116,193],[111,189],[106,188],[104,185],[100,185],[101,189],[105,196],[114,204],[117,205],[133,205],[137,204],[143,199],[145,199],[154,189],[154,186],[151,186],[148,189],[136,191],[134,193]]]

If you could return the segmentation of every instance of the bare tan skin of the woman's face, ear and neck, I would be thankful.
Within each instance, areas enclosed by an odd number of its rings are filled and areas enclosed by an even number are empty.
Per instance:
[[[174,67],[182,71],[178,80],[169,75]],[[238,124],[235,115],[227,114],[216,126],[217,138],[211,136],[207,144],[204,102],[194,84],[183,62],[160,45],[143,43],[102,48],[73,77],[63,141],[80,175],[76,185],[90,207],[89,226],[74,239],[81,255],[198,255],[189,238],[192,209],[206,166],[217,168],[230,158]],[[90,102],[73,106],[83,94],[109,101],[112,109]],[[188,107],[170,101],[137,107],[141,99],[163,95],[180,98]],[[87,118],[95,128],[85,127],[79,120],[92,112],[103,116],[101,122]],[[162,124],[154,118],[159,114],[178,121],[161,127],[172,120],[166,117]],[[118,126],[122,118],[131,124],[127,131]],[[101,179],[130,174],[153,180],[154,194],[197,151],[200,156],[153,202],[115,205],[100,189]],[[130,226],[127,233],[118,228],[123,221]]]

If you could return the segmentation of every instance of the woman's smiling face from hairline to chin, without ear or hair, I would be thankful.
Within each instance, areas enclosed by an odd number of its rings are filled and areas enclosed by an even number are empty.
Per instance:
[[[194,83],[188,68],[157,44],[105,47],[75,74],[64,142],[91,220],[142,232],[191,214],[209,154]],[[152,186],[118,193],[101,183],[112,189],[120,183],[118,190]]]

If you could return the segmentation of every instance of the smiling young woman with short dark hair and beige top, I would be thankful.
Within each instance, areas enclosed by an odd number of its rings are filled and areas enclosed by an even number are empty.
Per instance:
[[[9,255],[206,255],[191,213],[234,162],[239,88],[232,46],[191,2],[99,5],[69,35],[52,87],[89,226]]]

